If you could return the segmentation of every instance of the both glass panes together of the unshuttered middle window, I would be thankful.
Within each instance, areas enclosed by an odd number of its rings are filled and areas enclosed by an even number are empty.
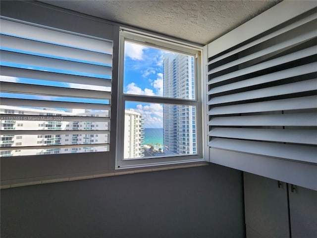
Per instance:
[[[197,154],[194,59],[190,54],[124,42],[123,159]],[[133,95],[135,100],[125,100]]]

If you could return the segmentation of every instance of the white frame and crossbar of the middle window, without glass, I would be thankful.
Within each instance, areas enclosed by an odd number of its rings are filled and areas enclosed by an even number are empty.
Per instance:
[[[123,93],[124,82],[124,44],[125,41],[137,43],[144,46],[155,47],[161,50],[176,52],[194,57],[195,67],[195,99],[180,99],[180,98],[167,98],[158,96],[145,96],[133,95]],[[134,31],[128,28],[120,28],[119,37],[119,67],[118,67],[118,107],[117,107],[117,140],[116,140],[116,158],[115,169],[138,168],[157,165],[169,165],[178,163],[199,162],[204,160],[204,140],[203,140],[203,94],[202,92],[202,47],[183,44],[170,40],[168,38],[159,37],[153,34]],[[140,103],[159,103],[171,105],[186,105],[196,107],[196,143],[198,144],[196,154],[191,155],[177,155],[177,156],[163,156],[154,158],[131,158],[124,159],[124,115],[125,115],[125,102],[140,102]],[[198,117],[199,115],[199,117]]]

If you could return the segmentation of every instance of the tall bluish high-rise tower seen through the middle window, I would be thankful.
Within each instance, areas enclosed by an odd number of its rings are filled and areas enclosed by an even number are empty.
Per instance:
[[[163,96],[195,99],[194,57],[166,54],[163,62]],[[165,104],[163,113],[165,155],[196,154],[195,107]]]

